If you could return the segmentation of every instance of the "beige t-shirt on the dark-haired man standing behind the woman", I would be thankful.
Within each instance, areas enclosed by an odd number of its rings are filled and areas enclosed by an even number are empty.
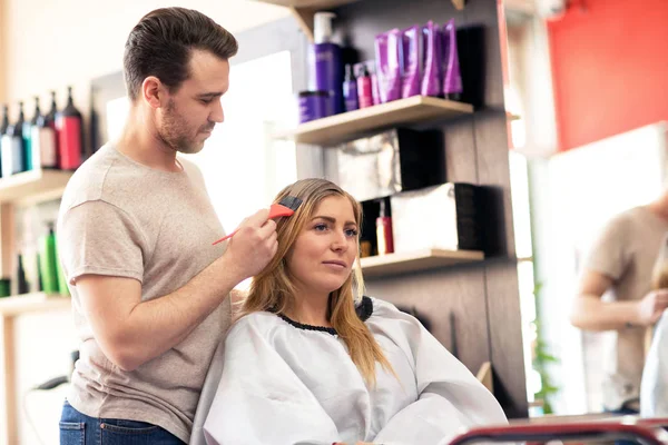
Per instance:
[[[69,403],[92,417],[159,425],[188,442],[214,350],[230,324],[229,298],[180,344],[132,372],[100,350],[81,310],[76,278],[137,279],[141,300],[168,295],[223,255],[224,235],[202,174],[143,166],[104,146],[72,176],[58,218],[58,248],[81,339]]]

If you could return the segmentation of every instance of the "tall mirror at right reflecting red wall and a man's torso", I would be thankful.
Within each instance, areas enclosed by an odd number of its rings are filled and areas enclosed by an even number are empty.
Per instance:
[[[630,24],[629,2],[546,3],[507,0],[502,23],[530,415],[631,414],[651,326],[595,332],[570,318],[588,271],[611,280],[605,301],[651,289],[668,219],[648,205],[665,192],[668,127],[652,100],[662,68],[645,50],[662,43],[647,16]],[[611,37],[622,28],[633,42]],[[597,243],[620,215],[638,222]]]

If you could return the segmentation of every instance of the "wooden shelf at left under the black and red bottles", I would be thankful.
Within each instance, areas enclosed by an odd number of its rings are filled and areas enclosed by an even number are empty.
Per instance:
[[[62,195],[71,171],[30,170],[0,178],[0,202],[36,202]]]

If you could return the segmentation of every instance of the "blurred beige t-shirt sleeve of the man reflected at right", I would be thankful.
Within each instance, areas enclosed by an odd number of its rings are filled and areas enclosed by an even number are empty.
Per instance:
[[[618,280],[628,267],[627,218],[621,215],[611,219],[599,233],[589,248],[584,268]]]

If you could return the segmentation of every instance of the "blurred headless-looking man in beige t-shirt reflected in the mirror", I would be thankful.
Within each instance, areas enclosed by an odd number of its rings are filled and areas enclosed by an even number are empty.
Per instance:
[[[638,413],[646,329],[668,307],[668,290],[651,290],[652,270],[667,231],[668,189],[656,201],[612,218],[584,263],[571,323],[581,329],[611,333],[601,388],[607,412]]]

